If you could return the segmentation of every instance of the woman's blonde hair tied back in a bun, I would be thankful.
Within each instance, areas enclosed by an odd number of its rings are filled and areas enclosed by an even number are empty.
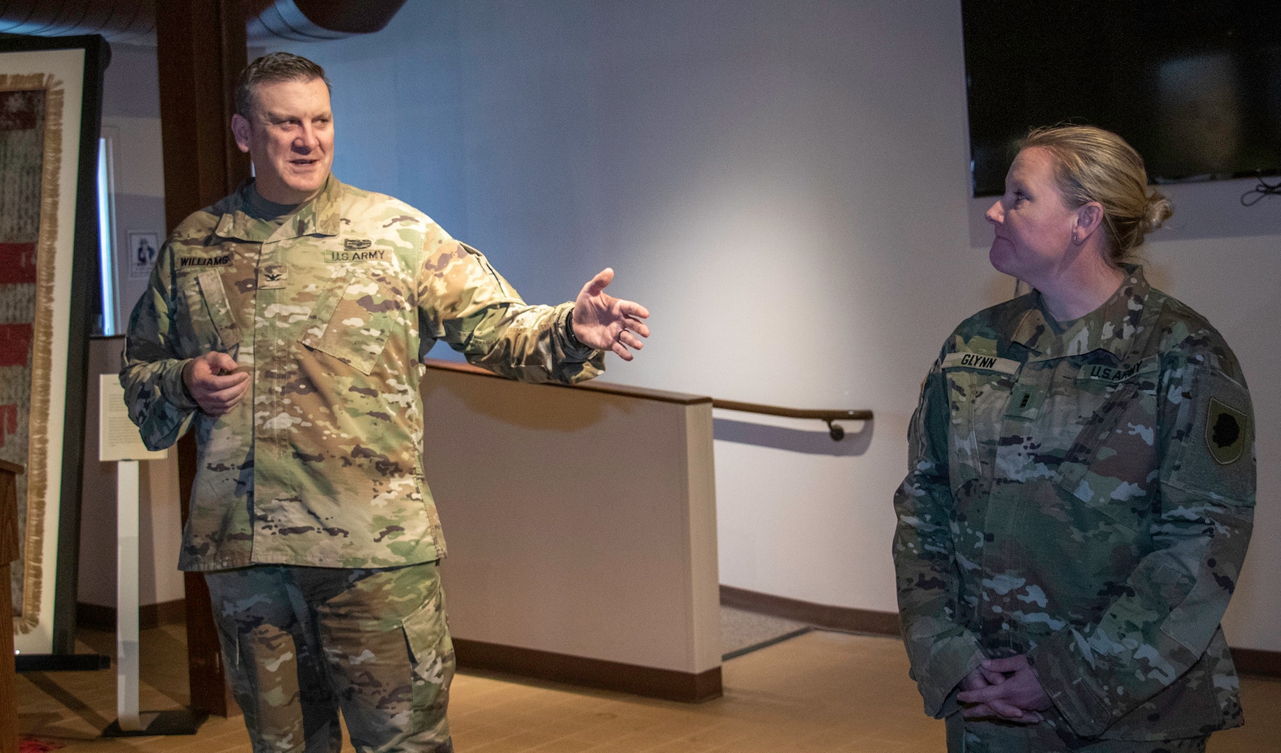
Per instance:
[[[1032,129],[1020,149],[1039,147],[1054,158],[1054,178],[1068,206],[1103,206],[1108,264],[1129,261],[1143,238],[1161,227],[1173,207],[1148,188],[1143,158],[1123,138],[1094,125]]]

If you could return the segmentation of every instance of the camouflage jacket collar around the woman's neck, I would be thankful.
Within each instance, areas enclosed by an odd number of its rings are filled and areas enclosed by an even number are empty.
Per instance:
[[[1012,341],[1034,353],[1035,360],[1059,359],[1107,351],[1126,361],[1135,336],[1141,332],[1143,309],[1150,286],[1140,265],[1123,265],[1121,287],[1102,306],[1072,321],[1054,321],[1045,312],[1038,291],[1030,307],[1015,327]]]

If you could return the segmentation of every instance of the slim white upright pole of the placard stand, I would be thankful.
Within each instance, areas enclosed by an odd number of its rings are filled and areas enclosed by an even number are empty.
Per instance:
[[[142,729],[138,716],[138,461],[115,466],[115,708],[120,730]]]

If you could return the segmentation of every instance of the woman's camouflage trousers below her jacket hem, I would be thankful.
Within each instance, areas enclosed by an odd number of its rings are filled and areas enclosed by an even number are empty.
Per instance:
[[[1053,717],[1058,717],[1057,721]],[[947,718],[948,753],[1204,753],[1204,738],[1177,740],[1099,740],[1077,738],[1062,717],[1049,712],[1038,725],[968,720],[959,713]]]

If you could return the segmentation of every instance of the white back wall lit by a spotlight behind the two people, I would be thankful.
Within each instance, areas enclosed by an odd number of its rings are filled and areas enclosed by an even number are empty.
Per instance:
[[[414,0],[378,35],[272,49],[328,69],[342,179],[428,211],[526,298],[615,266],[655,336],[606,379],[875,410],[839,446],[719,414],[721,583],[894,608],[920,380],[957,321],[1012,291],[968,198],[958,3]],[[1227,206],[1243,190],[1172,191],[1191,220],[1152,256],[1253,387],[1258,533],[1227,629],[1281,649],[1281,224],[1259,219],[1277,200]]]

